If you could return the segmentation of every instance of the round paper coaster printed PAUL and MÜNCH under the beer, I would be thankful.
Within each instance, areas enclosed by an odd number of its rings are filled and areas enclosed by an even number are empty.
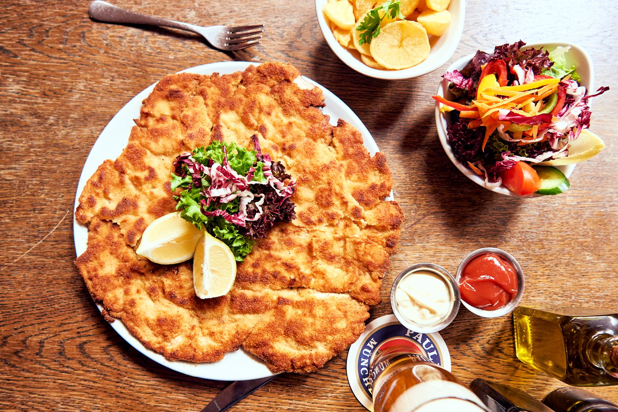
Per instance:
[[[404,345],[410,347],[410,353],[418,353],[451,371],[451,355],[444,339],[433,332],[421,334],[407,329],[397,321],[394,314],[378,317],[365,327],[365,332],[350,346],[347,357],[347,376],[352,393],[358,401],[373,412],[371,387],[369,382],[369,365],[378,353],[384,349]]]

